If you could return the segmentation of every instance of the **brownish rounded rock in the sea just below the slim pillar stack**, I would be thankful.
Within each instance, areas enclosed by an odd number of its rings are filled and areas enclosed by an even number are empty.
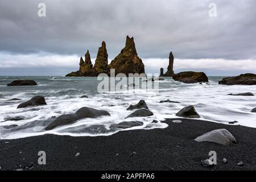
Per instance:
[[[180,72],[172,76],[175,81],[181,81],[185,84],[196,82],[208,82],[208,77],[204,72]]]

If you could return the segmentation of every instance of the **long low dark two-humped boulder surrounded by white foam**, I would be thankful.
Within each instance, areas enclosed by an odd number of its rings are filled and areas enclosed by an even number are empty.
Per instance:
[[[108,111],[97,110],[90,107],[82,107],[76,111],[74,114],[64,114],[57,117],[52,123],[50,123],[46,130],[52,130],[60,125],[68,125],[76,122],[79,119],[83,118],[97,118],[102,115],[110,115]]]

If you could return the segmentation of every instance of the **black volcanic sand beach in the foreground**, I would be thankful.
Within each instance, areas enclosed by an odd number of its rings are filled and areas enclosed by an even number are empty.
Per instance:
[[[2,170],[35,163],[32,170],[255,170],[256,129],[207,121],[167,119],[166,129],[120,131],[108,137],[43,135],[0,140]],[[227,129],[237,144],[197,143],[195,138],[214,129]],[[6,141],[10,143],[5,143]],[[38,151],[46,151],[47,164],[39,165]],[[217,152],[217,165],[201,166],[209,151]],[[19,154],[19,152],[22,152]],[[80,152],[79,156],[75,156]],[[136,154],[131,155],[133,152]],[[118,155],[117,155],[118,154]],[[222,163],[222,159],[228,163]],[[237,166],[242,161],[243,166]]]

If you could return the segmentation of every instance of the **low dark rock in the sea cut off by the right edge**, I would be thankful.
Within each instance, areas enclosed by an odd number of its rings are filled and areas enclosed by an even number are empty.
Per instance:
[[[240,76],[222,78],[218,84],[222,85],[256,85],[256,75],[252,73],[242,74]]]

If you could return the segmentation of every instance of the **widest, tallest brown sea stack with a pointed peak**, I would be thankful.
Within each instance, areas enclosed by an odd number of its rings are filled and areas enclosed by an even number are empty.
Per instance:
[[[133,38],[126,36],[125,48],[111,61],[109,69],[115,69],[115,75],[124,73],[129,76],[129,73],[145,73],[144,64],[137,55]]]

